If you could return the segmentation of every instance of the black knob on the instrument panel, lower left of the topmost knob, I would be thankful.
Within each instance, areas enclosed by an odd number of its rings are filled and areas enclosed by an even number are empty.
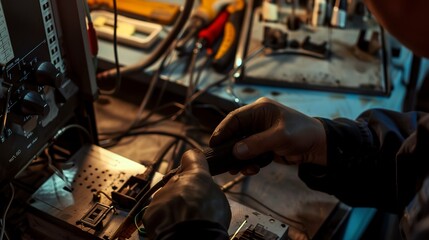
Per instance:
[[[22,113],[26,115],[39,115],[46,117],[49,113],[49,105],[42,95],[35,91],[26,90],[20,101]]]

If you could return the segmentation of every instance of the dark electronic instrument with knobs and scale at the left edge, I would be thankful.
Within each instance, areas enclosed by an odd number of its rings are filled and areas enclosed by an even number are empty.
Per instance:
[[[79,0],[0,1],[0,187],[72,119],[90,128],[98,89],[84,13]]]

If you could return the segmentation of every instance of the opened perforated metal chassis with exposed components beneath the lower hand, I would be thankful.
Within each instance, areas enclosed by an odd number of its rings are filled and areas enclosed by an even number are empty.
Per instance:
[[[82,147],[63,168],[73,191],[57,175],[48,179],[30,200],[29,220],[46,239],[112,239],[128,210],[110,196],[146,168],[95,145]],[[158,182],[156,173],[152,182]],[[138,184],[135,184],[138,186]],[[152,184],[153,185],[153,184]],[[137,191],[130,187],[128,191]],[[230,200],[228,230],[235,239],[286,239],[288,225]],[[141,214],[135,216],[142,217]],[[45,232],[45,229],[50,229]],[[135,231],[129,239],[144,239]]]

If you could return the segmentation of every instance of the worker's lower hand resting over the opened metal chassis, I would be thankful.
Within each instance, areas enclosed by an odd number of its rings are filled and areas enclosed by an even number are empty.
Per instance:
[[[149,237],[185,221],[203,220],[228,229],[231,210],[228,200],[213,181],[201,152],[190,150],[182,157],[181,170],[153,197],[143,215]]]

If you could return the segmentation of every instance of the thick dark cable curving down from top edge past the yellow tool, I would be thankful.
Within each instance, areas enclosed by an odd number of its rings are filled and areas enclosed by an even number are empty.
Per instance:
[[[192,10],[193,10],[194,0],[186,0],[185,4],[183,6],[182,14],[180,15],[179,19],[176,21],[176,25],[173,26],[170,33],[167,35],[167,37],[162,41],[158,47],[152,52],[150,56],[145,58],[143,62],[125,66],[121,68],[122,74],[130,74],[134,72],[139,72],[141,70],[144,70],[145,68],[151,66],[155,62],[159,60],[159,58],[166,52],[168,48],[171,46],[174,46],[173,42],[175,41],[176,37],[179,35],[179,33],[182,31],[183,27],[185,26]],[[114,70],[110,69],[107,71],[104,71],[97,76],[99,78],[108,78],[114,74]]]

